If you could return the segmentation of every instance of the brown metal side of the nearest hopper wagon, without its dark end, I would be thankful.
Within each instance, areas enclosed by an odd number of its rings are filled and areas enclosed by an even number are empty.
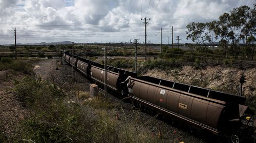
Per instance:
[[[232,119],[238,119],[238,115],[233,116],[231,110],[239,110],[238,104],[229,102],[226,98],[210,98],[204,91],[205,96],[189,91],[194,86],[190,86],[184,91],[186,84],[177,84],[177,82],[161,80],[154,77],[129,77],[128,90],[132,98],[142,104],[146,104],[167,113],[168,116],[185,121],[189,124],[202,129],[207,129],[214,133],[219,133],[222,128],[226,128],[226,123]],[[175,88],[176,84],[176,88]],[[180,85],[180,86],[178,86]],[[190,89],[190,90],[189,90]],[[202,93],[201,93],[202,94]],[[212,96],[216,97],[216,96]],[[238,97],[234,97],[231,101],[238,102]],[[222,101],[219,99],[226,99]],[[243,99],[243,98],[242,98]],[[227,124],[228,125],[228,124]]]

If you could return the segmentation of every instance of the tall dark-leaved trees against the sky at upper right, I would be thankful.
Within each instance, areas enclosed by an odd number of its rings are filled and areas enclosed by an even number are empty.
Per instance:
[[[206,42],[214,44],[217,40],[225,51],[231,50],[234,58],[238,55],[240,44],[250,47],[251,59],[254,60],[256,34],[256,4],[251,9],[248,6],[234,8],[230,13],[224,13],[219,20],[211,22],[191,22],[187,27],[187,39],[201,45]],[[202,48],[207,52],[207,49]]]

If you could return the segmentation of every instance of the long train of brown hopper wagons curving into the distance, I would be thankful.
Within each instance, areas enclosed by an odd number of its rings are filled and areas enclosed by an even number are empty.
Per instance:
[[[63,58],[88,78],[104,84],[104,66],[68,51]],[[138,77],[134,72],[111,66],[106,69],[108,89],[158,111],[171,121],[229,136],[237,143],[255,133],[254,113],[245,105],[245,97],[150,76]]]

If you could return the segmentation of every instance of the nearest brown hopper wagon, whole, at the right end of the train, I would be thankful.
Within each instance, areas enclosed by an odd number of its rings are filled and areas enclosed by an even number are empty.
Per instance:
[[[126,81],[131,98],[170,120],[235,139],[253,133],[254,114],[244,105],[245,97],[150,76],[129,77]]]

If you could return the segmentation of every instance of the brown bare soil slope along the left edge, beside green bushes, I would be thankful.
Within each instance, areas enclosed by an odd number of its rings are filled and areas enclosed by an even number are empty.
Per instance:
[[[16,133],[18,122],[30,115],[13,93],[14,82],[25,76],[13,70],[0,71],[0,131],[8,138]]]

